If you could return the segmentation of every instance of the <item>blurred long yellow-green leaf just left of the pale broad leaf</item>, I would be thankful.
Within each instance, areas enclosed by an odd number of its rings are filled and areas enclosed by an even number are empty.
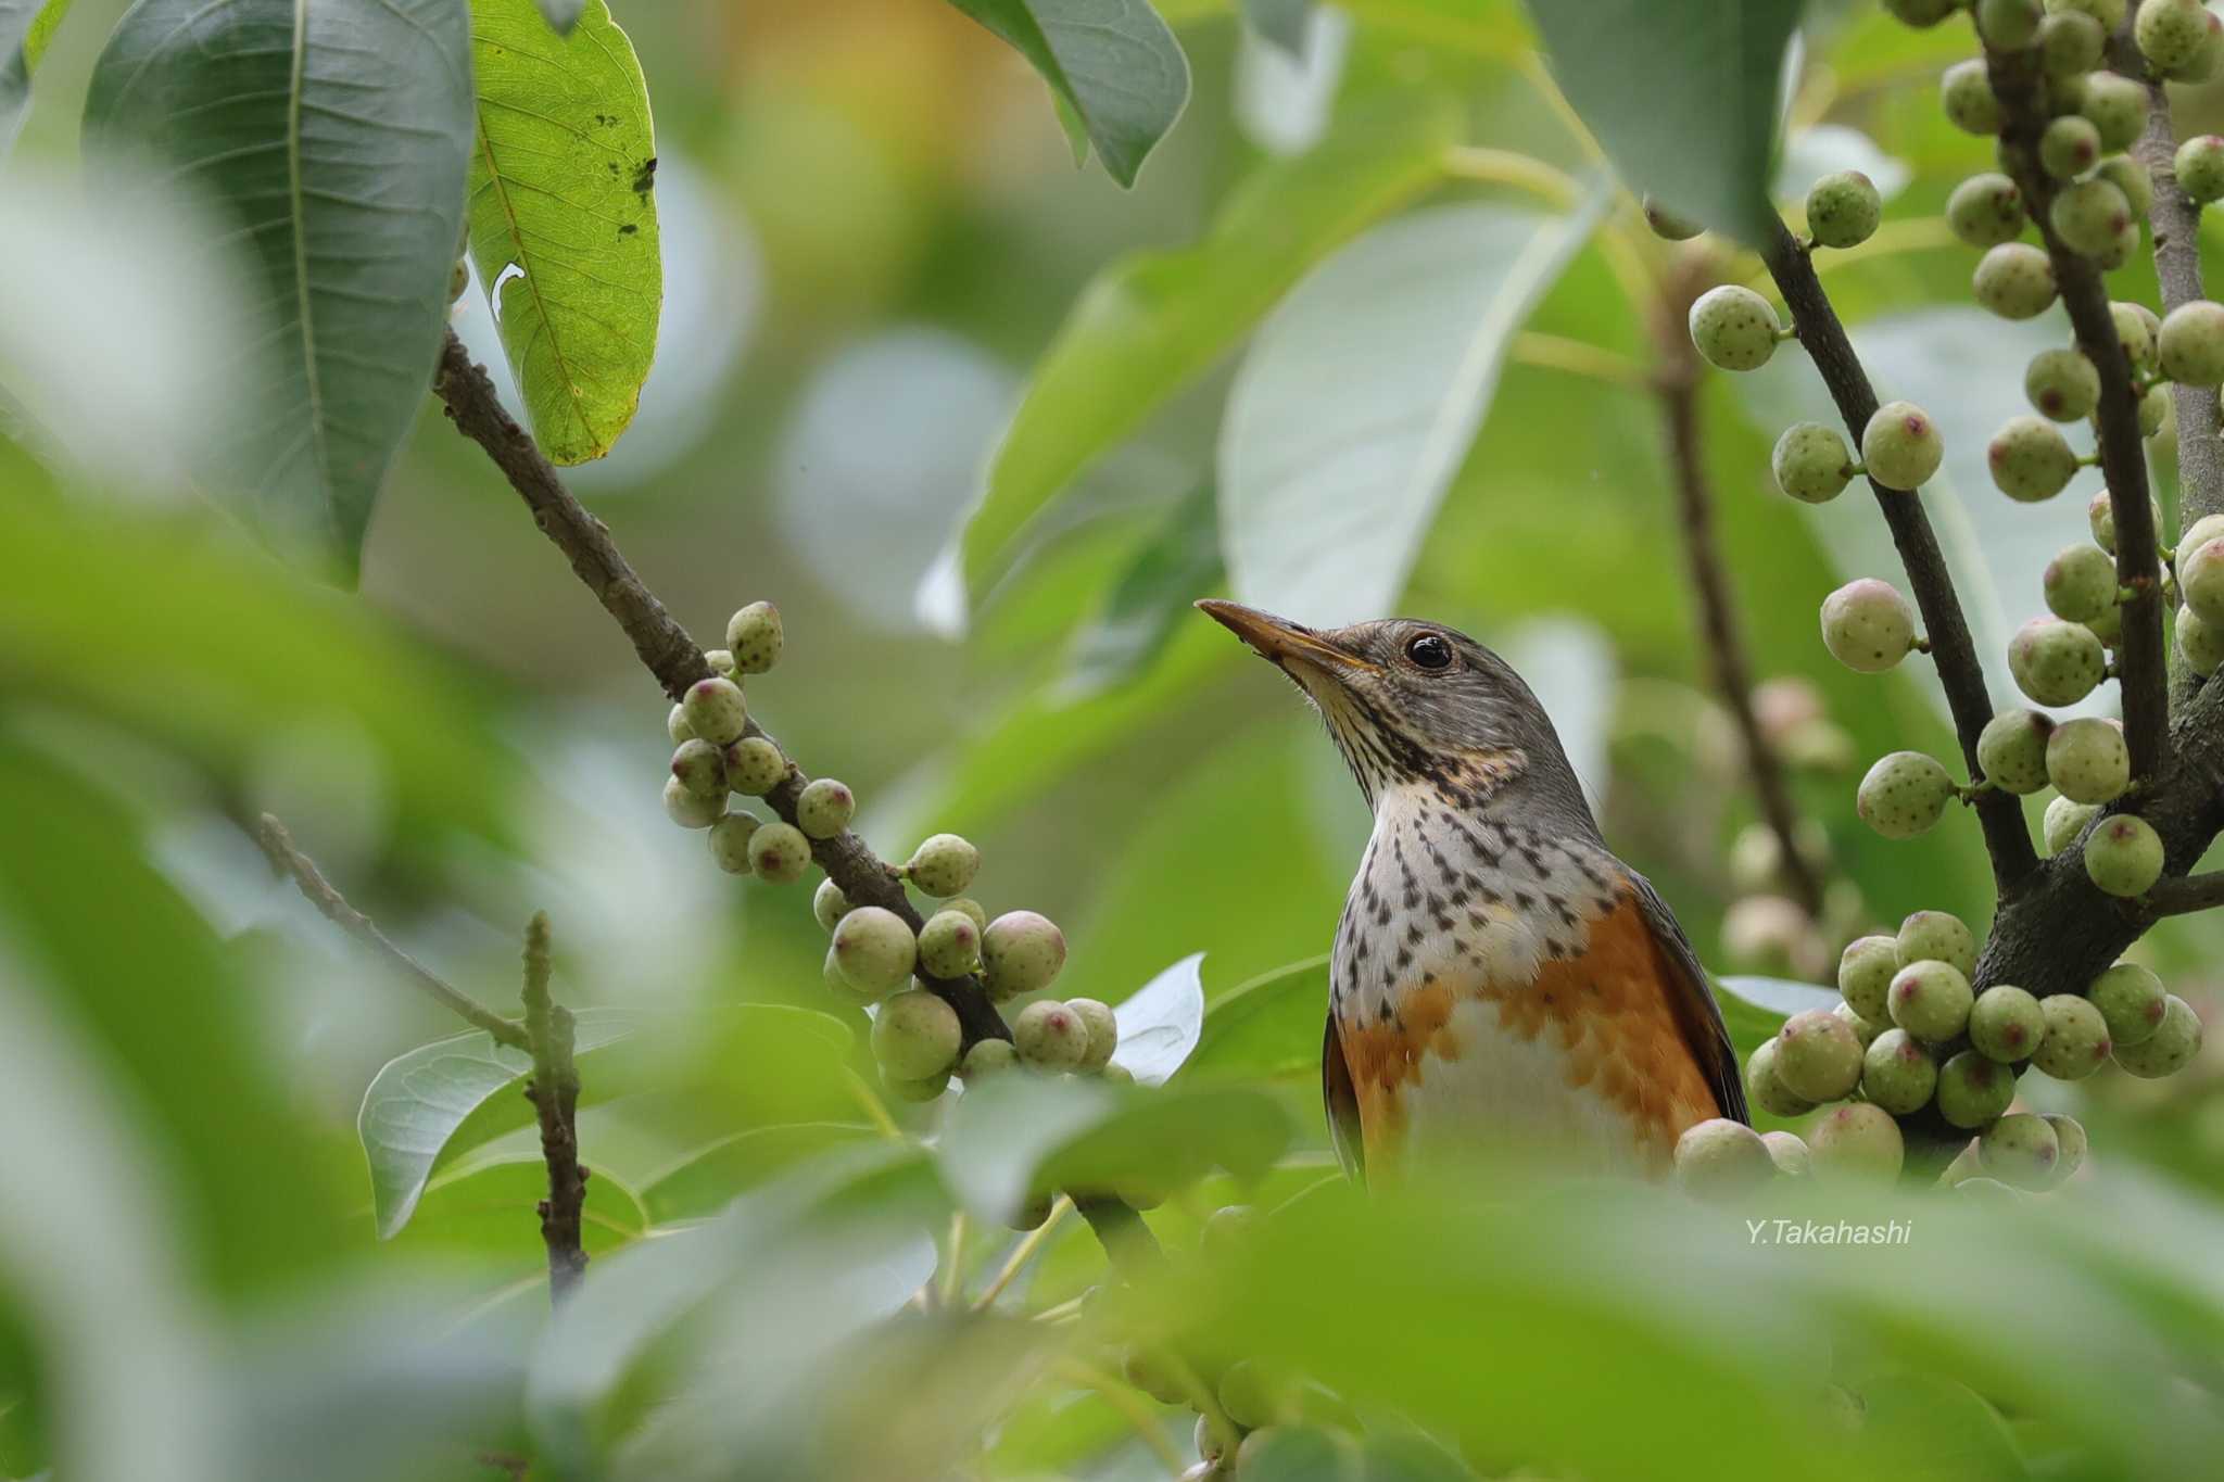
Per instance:
[[[1210,236],[1105,269],[1045,351],[967,518],[979,600],[1012,544],[1074,475],[1243,338],[1297,278],[1441,178],[1459,116],[1439,98],[1359,113],[1317,149],[1252,176]]]

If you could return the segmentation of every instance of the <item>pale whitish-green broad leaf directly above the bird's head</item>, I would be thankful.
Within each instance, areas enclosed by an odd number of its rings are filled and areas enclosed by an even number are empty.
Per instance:
[[[1221,422],[1221,547],[1241,600],[1312,624],[1397,607],[1515,333],[1604,202],[1419,211],[1290,293]]]

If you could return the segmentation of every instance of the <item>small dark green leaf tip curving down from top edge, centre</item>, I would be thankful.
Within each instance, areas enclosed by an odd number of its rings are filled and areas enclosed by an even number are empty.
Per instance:
[[[1096,158],[1134,184],[1190,100],[1190,60],[1145,0],[950,0],[1001,36],[1074,111]]]

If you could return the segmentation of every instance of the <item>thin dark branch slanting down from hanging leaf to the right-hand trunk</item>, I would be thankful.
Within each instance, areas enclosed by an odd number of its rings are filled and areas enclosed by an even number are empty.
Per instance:
[[[1868,384],[1868,371],[1861,369],[1859,356],[1853,353],[1853,342],[1830,307],[1830,296],[1815,278],[1815,262],[1784,222],[1777,222],[1775,238],[1761,258],[1768,262],[1768,276],[1775,278],[1777,291],[1784,293],[1784,307],[1793,313],[1799,344],[1815,360],[1839,418],[1859,444],[1861,429],[1877,411],[1877,393]],[[1977,735],[1993,718],[1993,695],[1984,687],[1984,669],[1977,664],[1977,649],[1968,638],[1968,620],[1962,618],[1962,600],[1955,595],[1946,558],[1930,531],[1930,515],[1924,513],[1915,491],[1886,489],[1877,480],[1868,480],[1868,487],[1893,531],[1899,562],[1908,571],[1908,587],[1915,589],[1915,607],[1924,615],[1924,635],[1930,640],[1939,689],[1946,691],[1946,709],[1962,738],[1962,760],[1968,764],[1968,775],[1977,778],[1982,771],[1977,767]],[[1977,824],[1984,829],[1984,847],[1993,855],[1993,882],[2006,900],[2039,862],[2031,847],[2031,829],[2024,824],[2024,809],[1997,789],[1979,793],[1975,809]]]

